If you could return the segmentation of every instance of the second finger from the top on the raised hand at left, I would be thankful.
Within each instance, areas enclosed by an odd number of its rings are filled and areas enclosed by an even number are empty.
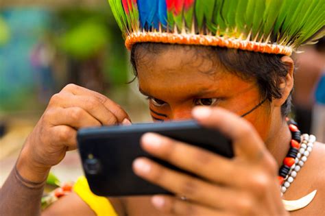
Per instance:
[[[54,98],[53,100],[57,101],[56,104],[63,108],[83,108],[102,125],[115,125],[118,123],[117,117],[97,97],[73,95],[72,93],[60,93],[60,95],[53,97],[60,97],[59,99]]]

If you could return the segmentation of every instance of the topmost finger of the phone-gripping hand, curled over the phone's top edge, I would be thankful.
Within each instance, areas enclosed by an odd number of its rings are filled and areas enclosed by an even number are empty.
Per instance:
[[[232,139],[235,154],[248,160],[261,160],[267,152],[263,141],[252,125],[245,119],[222,108],[197,107],[193,117],[207,128],[219,130]]]

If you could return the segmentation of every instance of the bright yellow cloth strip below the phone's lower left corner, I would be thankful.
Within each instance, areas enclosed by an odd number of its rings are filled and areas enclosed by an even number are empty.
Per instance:
[[[117,216],[112,204],[106,197],[99,197],[89,188],[87,179],[82,176],[78,178],[73,186],[73,191],[79,195],[98,216]]]

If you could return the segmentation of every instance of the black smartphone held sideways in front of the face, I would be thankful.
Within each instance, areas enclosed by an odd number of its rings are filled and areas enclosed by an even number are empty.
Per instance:
[[[203,128],[195,121],[84,128],[78,131],[77,141],[84,173],[93,193],[106,197],[170,194],[169,191],[139,178],[132,171],[134,159],[141,156],[151,158],[165,167],[182,171],[154,158],[141,148],[140,139],[146,132],[169,136],[227,158],[233,156],[231,142],[226,136]],[[217,167],[215,169],[217,171]]]

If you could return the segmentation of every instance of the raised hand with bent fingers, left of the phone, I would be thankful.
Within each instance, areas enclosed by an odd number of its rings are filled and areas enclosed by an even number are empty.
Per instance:
[[[130,123],[126,112],[104,95],[69,84],[53,95],[49,106],[29,134],[21,157],[36,169],[57,165],[76,149],[77,130],[84,127]],[[17,167],[23,164],[17,163]],[[32,168],[31,167],[31,168]]]

